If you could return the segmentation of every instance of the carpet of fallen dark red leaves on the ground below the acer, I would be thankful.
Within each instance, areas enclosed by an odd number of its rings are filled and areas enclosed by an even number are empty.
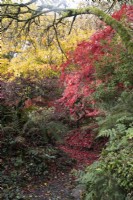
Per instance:
[[[94,142],[94,134],[88,131],[74,130],[65,138],[64,145],[59,148],[65,151],[77,164],[92,164],[99,158],[106,140]]]

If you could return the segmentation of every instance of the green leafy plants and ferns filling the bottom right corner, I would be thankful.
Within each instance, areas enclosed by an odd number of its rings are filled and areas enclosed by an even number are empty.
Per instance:
[[[80,180],[86,188],[85,200],[133,198],[132,139],[133,127],[123,136],[112,136],[99,161],[87,167]]]

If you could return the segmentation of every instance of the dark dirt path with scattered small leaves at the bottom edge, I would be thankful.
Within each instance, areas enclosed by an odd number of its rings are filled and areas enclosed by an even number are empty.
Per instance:
[[[71,170],[58,171],[47,180],[38,179],[25,188],[25,199],[31,200],[73,200],[75,180]],[[51,172],[52,173],[52,172]],[[80,197],[78,197],[79,199]],[[77,200],[77,198],[75,199]]]

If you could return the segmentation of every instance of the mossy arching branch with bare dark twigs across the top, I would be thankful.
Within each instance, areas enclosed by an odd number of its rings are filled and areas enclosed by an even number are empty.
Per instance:
[[[31,8],[32,4],[36,2],[37,0],[31,0],[28,3],[20,3],[20,4],[1,3],[0,7],[2,7],[2,11],[0,12],[0,18],[1,20],[11,19],[16,22],[24,22],[22,30],[24,29],[30,30],[30,25],[34,23],[35,19],[38,19],[38,17],[48,15],[49,13],[57,13],[59,16],[58,19],[54,20],[53,24],[47,27],[47,30],[53,27],[55,31],[55,36],[57,38],[57,42],[59,43],[56,27],[59,23],[63,21],[63,19],[74,17],[69,31],[70,33],[76,16],[82,14],[93,14],[99,17],[107,25],[110,25],[120,35],[123,43],[129,49],[129,51],[133,51],[133,42],[130,32],[120,22],[112,18],[110,15],[106,14],[104,11],[90,6],[80,9],[66,9],[66,8],[64,9],[59,7],[61,5],[60,3],[58,4],[57,7],[43,3],[44,1],[42,1],[41,5],[36,5],[35,9],[32,9]],[[115,2],[115,0],[113,2]]]

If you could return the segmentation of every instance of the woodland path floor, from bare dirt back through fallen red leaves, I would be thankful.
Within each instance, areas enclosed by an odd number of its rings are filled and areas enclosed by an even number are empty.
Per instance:
[[[70,143],[72,137],[77,138],[77,143]],[[64,146],[60,146],[60,149],[68,153],[69,157],[65,154],[57,159],[56,163],[51,166],[51,171],[46,178],[36,178],[32,184],[29,184],[25,188],[25,200],[80,200],[81,190],[77,188],[77,181],[72,171],[75,169],[83,169],[86,165],[93,163],[99,158],[101,147],[105,144],[105,141],[101,141],[99,144],[91,145],[91,135],[80,138],[77,134],[66,138]],[[87,146],[90,144],[90,148],[83,148],[82,141],[87,142]],[[80,147],[80,143],[81,147]],[[77,145],[78,144],[78,145]],[[75,159],[75,162],[71,162],[69,159]]]

